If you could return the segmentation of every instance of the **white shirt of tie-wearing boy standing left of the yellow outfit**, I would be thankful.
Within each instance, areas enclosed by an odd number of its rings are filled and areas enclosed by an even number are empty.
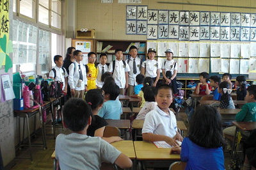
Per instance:
[[[81,86],[78,88],[76,85],[79,80],[79,71],[78,71],[79,65],[81,67],[81,72],[83,74],[83,81],[81,82]],[[80,61],[80,64],[79,64],[77,63],[77,61],[74,61],[74,63],[72,63],[68,67],[68,70],[69,70],[68,84],[70,86],[70,89],[76,89],[78,91],[84,90],[84,85],[87,85],[87,77],[86,77],[86,69],[85,69],[85,66],[83,65],[83,62]]]

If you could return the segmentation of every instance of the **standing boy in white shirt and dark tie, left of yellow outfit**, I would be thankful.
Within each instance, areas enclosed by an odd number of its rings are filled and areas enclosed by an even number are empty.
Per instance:
[[[75,50],[74,57],[76,61],[68,68],[68,84],[73,98],[83,98],[84,91],[87,91],[87,77],[81,50]]]

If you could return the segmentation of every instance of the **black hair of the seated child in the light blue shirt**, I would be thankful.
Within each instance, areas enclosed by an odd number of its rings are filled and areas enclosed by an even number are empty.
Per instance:
[[[104,83],[101,89],[104,90],[105,95],[109,94],[110,100],[116,100],[116,97],[118,97],[120,93],[120,88],[115,82]]]

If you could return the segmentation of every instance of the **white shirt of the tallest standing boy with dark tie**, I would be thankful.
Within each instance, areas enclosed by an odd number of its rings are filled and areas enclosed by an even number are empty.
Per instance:
[[[128,59],[125,60],[126,63],[128,63]],[[130,67],[130,72],[128,72],[128,84],[130,84],[131,86],[137,86],[137,82],[136,82],[136,75],[138,75],[140,73],[140,62],[141,62],[141,59],[138,58],[136,56],[135,58],[135,63],[136,63],[136,70],[137,70],[137,73],[134,74],[133,73],[133,61],[134,61],[134,58],[130,58],[129,60],[129,67]]]

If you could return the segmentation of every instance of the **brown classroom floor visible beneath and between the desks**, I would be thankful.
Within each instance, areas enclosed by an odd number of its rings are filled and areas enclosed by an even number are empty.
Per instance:
[[[182,120],[186,124],[188,128],[189,125],[186,122],[187,117],[184,112],[179,112],[177,115],[177,120]],[[38,134],[35,138],[31,139],[31,143],[42,143],[42,135],[40,134],[40,130],[38,130]],[[69,134],[70,130],[64,128],[56,128],[56,134]],[[46,128],[46,134],[52,134],[52,128]],[[187,131],[184,132],[184,136],[188,134]],[[47,143],[47,150],[43,150],[42,147],[33,147],[33,164],[31,164],[30,159],[23,159],[23,158],[16,158],[15,159],[15,166],[12,169],[53,169],[53,160],[51,159],[51,155],[55,148],[55,140],[53,139],[52,135],[46,136],[46,143]],[[21,150],[17,151],[17,157],[29,157],[28,148],[22,148]],[[230,162],[230,155],[229,153],[225,153],[225,168],[228,169],[228,164]]]

